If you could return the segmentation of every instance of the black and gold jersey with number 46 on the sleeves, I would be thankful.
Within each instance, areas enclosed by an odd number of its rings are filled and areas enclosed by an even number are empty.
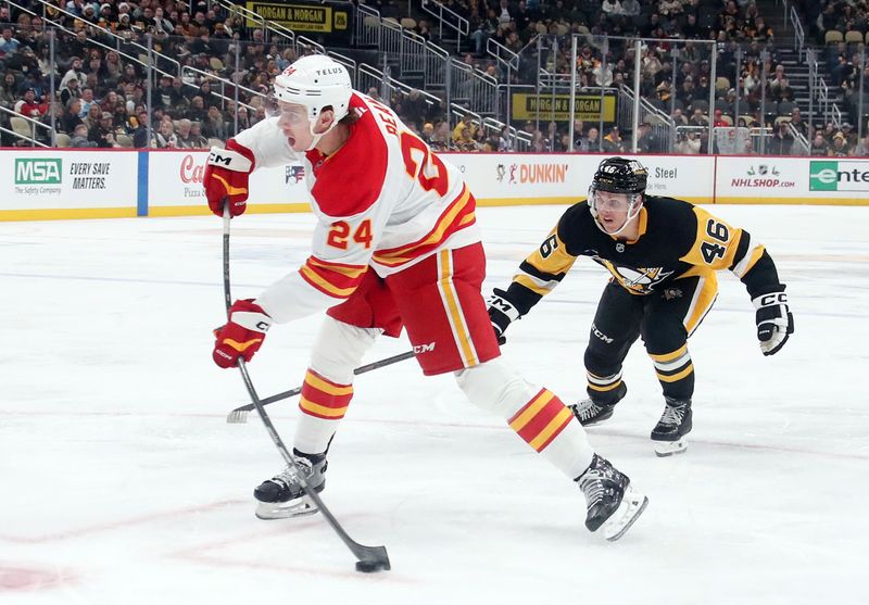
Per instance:
[[[522,315],[551,292],[579,256],[590,256],[613,280],[637,295],[660,292],[692,276],[715,280],[730,269],[754,298],[779,282],[776,265],[752,236],[682,200],[643,197],[640,235],[633,241],[602,231],[585,201],[574,204],[519,266],[507,290]]]

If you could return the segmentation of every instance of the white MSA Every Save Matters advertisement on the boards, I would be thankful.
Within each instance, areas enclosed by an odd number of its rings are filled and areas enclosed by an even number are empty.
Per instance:
[[[0,210],[136,209],[136,152],[0,151]]]

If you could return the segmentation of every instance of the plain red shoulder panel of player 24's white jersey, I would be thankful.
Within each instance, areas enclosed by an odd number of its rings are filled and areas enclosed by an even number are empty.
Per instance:
[[[328,157],[317,150],[307,152],[316,177],[311,194],[329,216],[365,212],[385,187],[389,153],[383,131],[371,109],[355,92],[350,111],[356,112],[358,118],[341,149]]]

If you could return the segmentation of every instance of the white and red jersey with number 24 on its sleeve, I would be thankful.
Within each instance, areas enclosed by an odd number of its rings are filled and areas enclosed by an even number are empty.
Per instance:
[[[381,277],[444,248],[480,241],[475,200],[459,171],[438,157],[392,110],[354,92],[357,116],[335,153],[295,153],[268,118],[236,137],[254,166],[302,162],[317,216],[304,265],[256,299],[278,323],[343,302],[370,267]]]

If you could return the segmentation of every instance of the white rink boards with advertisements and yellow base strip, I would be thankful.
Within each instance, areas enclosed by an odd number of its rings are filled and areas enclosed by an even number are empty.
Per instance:
[[[479,205],[572,203],[599,154],[449,153]],[[648,192],[694,203],[867,205],[869,159],[629,155]],[[206,151],[0,150],[0,220],[206,214]],[[352,184],[350,184],[352,187]],[[306,212],[304,168],[251,177],[249,211]]]

